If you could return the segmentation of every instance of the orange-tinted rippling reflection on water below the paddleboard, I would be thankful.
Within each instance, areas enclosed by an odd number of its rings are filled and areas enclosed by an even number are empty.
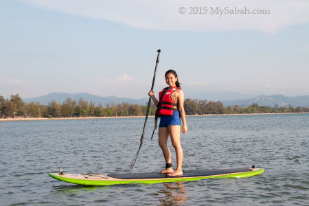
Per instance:
[[[187,199],[185,194],[187,189],[182,182],[163,183],[163,185],[165,187],[157,192],[165,195],[163,198],[159,198],[160,205],[183,205],[187,203],[185,201]]]

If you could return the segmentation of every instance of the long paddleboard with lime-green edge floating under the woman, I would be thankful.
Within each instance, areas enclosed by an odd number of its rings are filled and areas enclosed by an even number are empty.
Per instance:
[[[183,170],[182,176],[167,176],[157,172],[144,173],[111,173],[111,174],[65,174],[49,173],[54,179],[78,185],[117,185],[128,183],[164,183],[176,181],[197,181],[207,178],[240,178],[260,174],[262,168],[233,168],[218,170]]]

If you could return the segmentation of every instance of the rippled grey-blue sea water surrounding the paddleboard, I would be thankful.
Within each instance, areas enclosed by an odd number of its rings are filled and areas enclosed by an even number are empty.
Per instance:
[[[255,165],[258,176],[84,187],[47,175],[158,171],[153,124],[130,170],[144,118],[0,122],[0,205],[309,205],[308,114],[187,117],[184,169]]]

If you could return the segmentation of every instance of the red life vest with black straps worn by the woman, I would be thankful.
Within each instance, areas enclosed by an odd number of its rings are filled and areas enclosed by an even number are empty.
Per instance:
[[[179,87],[172,87],[171,89],[168,89],[168,87],[164,88],[159,93],[159,105],[157,108],[157,115],[160,117],[161,115],[168,115],[172,116],[174,111],[178,111],[178,104],[176,104],[172,98],[171,95],[176,89],[180,89]],[[177,108],[174,108],[174,107]]]

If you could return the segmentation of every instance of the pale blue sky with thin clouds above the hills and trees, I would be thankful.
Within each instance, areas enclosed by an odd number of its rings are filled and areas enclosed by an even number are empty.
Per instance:
[[[255,14],[253,14],[255,13]],[[256,14],[260,13],[260,14]],[[0,1],[0,95],[309,95],[309,1]]]

